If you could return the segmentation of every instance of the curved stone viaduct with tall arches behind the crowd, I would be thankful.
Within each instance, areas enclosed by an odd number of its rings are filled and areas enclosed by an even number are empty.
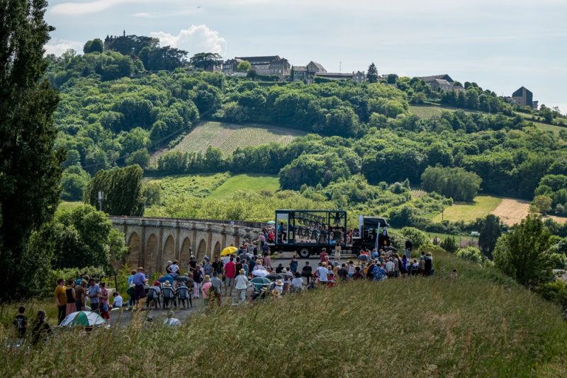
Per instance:
[[[146,217],[110,217],[113,227],[125,234],[130,255],[125,263],[143,266],[147,272],[164,272],[167,260],[179,260],[186,266],[191,254],[220,256],[228,246],[240,246],[244,239],[258,239],[262,224],[212,219],[173,219]]]

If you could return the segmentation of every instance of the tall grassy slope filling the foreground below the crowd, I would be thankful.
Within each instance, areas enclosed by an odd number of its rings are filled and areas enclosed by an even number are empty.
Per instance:
[[[27,355],[2,348],[0,371],[67,375],[80,360],[80,372],[93,376],[566,376],[567,326],[558,307],[447,253],[434,253],[434,268],[433,277],[228,306],[176,329],[147,326],[140,312],[127,328],[88,341],[69,331]],[[449,280],[452,268],[458,280]]]

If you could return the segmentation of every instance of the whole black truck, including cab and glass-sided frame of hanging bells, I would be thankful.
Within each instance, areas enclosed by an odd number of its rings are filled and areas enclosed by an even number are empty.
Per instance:
[[[276,210],[274,252],[297,252],[301,258],[319,254],[322,248],[333,253],[337,244],[343,253],[357,255],[361,249],[388,248],[390,225],[383,217],[359,216],[359,236],[346,244],[347,212],[342,210]]]

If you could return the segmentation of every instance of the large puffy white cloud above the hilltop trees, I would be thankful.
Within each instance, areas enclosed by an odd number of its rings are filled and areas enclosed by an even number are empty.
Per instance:
[[[218,31],[211,30],[207,25],[191,25],[189,29],[180,30],[179,35],[162,31],[150,34],[159,38],[160,45],[189,51],[189,55],[197,52],[217,52],[224,55],[226,52],[225,38],[219,37]]]

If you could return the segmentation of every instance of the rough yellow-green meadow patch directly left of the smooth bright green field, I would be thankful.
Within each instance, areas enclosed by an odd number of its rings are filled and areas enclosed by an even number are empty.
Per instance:
[[[159,183],[163,197],[180,194],[206,197],[230,178],[228,173],[210,173],[201,175],[176,175],[162,178],[150,178],[148,182]]]

